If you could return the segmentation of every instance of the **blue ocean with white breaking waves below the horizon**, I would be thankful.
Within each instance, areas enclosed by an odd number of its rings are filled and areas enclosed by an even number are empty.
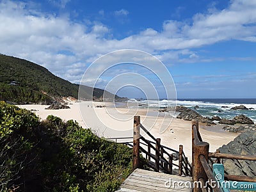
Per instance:
[[[140,108],[166,108],[177,106],[185,106],[193,109],[202,116],[220,116],[221,118],[234,118],[234,116],[244,114],[256,123],[256,99],[177,99],[177,100],[136,100]],[[250,110],[232,110],[235,106],[244,105]],[[195,109],[195,106],[199,106]],[[225,107],[225,108],[223,108]]]

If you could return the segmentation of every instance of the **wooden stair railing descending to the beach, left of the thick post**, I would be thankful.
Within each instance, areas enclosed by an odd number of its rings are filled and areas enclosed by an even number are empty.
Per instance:
[[[150,138],[146,139],[141,135],[141,131]],[[140,124],[140,116],[134,116],[133,129],[133,169],[140,167],[140,152],[145,154],[147,165],[156,172],[164,172],[173,174],[173,167],[176,167],[179,175],[191,175],[191,164],[188,157],[185,156],[183,146],[179,146],[178,150],[161,145],[160,138],[154,138],[147,129]],[[179,160],[179,164],[173,163],[173,154]]]

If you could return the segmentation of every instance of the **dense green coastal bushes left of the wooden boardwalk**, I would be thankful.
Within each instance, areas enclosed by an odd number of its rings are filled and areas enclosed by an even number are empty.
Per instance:
[[[0,102],[0,191],[115,191],[132,149],[77,122]]]

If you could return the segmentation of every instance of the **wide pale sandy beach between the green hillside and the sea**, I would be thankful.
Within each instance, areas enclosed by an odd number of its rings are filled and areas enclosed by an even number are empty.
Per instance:
[[[45,109],[44,105],[21,105],[20,108],[33,109],[42,120],[48,115],[59,116],[63,120],[76,120],[82,127],[91,128],[99,136],[105,138],[132,137],[133,117],[141,116],[141,124],[149,129],[155,138],[161,138],[161,144],[179,150],[179,145],[184,146],[184,152],[191,160],[191,122],[171,118],[170,116],[154,116],[153,109],[138,108],[113,108],[113,103],[105,102],[72,102],[70,109]],[[106,106],[97,108],[96,106]],[[35,111],[36,110],[36,111]],[[223,125],[207,127],[200,124],[200,134],[204,141],[210,143],[210,151],[234,140],[237,133],[222,130]],[[164,127],[164,132],[159,130]],[[141,132],[143,134],[143,132]],[[130,139],[132,141],[132,139]]]

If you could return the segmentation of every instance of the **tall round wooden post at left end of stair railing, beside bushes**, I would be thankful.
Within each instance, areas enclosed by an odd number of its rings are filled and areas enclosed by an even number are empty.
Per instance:
[[[140,167],[140,116],[134,116],[132,169]]]

